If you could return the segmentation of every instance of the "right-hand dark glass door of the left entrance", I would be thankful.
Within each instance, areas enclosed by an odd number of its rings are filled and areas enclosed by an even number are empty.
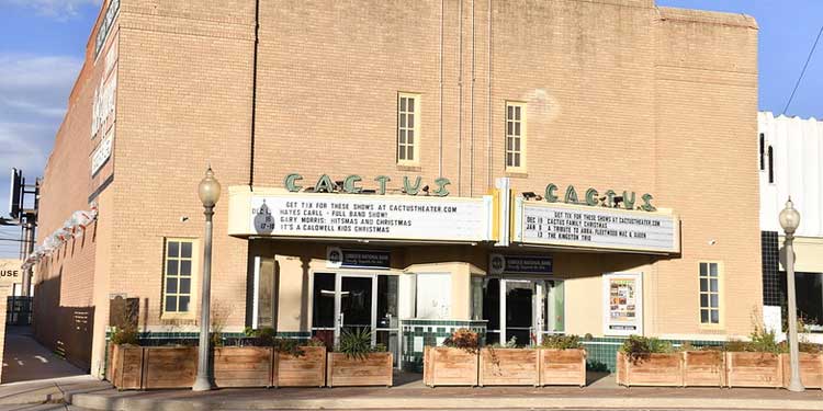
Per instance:
[[[374,301],[376,297],[374,276],[340,275],[338,281],[335,341],[339,342],[345,331],[374,331],[377,308]],[[375,334],[372,332],[372,344],[374,342]]]

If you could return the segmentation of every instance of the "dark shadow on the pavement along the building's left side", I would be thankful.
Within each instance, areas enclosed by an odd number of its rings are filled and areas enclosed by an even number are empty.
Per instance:
[[[2,384],[86,374],[35,341],[30,327],[5,327],[2,359]]]

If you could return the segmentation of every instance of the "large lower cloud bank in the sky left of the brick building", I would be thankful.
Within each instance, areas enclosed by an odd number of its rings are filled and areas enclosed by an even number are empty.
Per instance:
[[[0,0],[2,1],[2,0]],[[0,54],[0,215],[8,216],[9,169],[26,180],[43,175],[68,95],[82,60],[66,56]],[[0,235],[14,228],[0,229]],[[4,237],[9,237],[8,235]],[[15,258],[0,247],[0,258]]]

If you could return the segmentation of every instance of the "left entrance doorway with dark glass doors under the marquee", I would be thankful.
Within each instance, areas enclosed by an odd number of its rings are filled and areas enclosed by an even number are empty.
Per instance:
[[[315,273],[312,334],[337,345],[345,332],[368,330],[372,345],[382,344],[399,358],[396,275]]]

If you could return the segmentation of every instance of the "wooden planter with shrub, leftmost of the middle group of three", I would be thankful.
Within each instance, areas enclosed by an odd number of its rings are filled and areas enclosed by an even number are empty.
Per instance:
[[[424,384],[476,386],[478,341],[476,332],[459,329],[443,341],[443,346],[424,347]]]

